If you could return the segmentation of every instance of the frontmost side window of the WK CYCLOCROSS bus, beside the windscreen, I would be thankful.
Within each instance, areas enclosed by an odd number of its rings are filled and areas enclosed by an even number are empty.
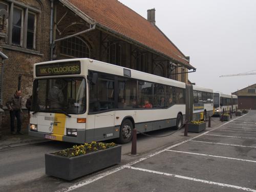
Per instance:
[[[95,75],[93,77],[93,74]],[[89,111],[97,112],[114,109],[114,76],[91,73]]]

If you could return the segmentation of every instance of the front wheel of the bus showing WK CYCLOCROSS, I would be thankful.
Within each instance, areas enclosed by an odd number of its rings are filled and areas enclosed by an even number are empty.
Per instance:
[[[129,143],[133,137],[133,123],[129,119],[123,120],[121,127],[118,142],[119,143]]]

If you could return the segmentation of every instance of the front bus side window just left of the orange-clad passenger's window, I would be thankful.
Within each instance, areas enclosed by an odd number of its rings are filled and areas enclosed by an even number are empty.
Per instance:
[[[118,78],[118,108],[137,108],[137,81],[129,78]]]

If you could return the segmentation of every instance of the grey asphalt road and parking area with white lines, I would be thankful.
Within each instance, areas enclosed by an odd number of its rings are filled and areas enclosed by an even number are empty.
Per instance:
[[[45,175],[44,155],[72,143],[13,148],[0,152],[0,191],[256,191],[255,117],[213,118],[212,128],[188,137],[172,129],[138,135],[138,156],[124,144],[120,165],[71,182]]]

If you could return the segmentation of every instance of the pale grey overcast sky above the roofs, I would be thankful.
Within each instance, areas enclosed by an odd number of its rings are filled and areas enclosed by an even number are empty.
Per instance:
[[[188,79],[229,94],[256,83],[256,0],[119,0],[156,25],[197,68]]]

